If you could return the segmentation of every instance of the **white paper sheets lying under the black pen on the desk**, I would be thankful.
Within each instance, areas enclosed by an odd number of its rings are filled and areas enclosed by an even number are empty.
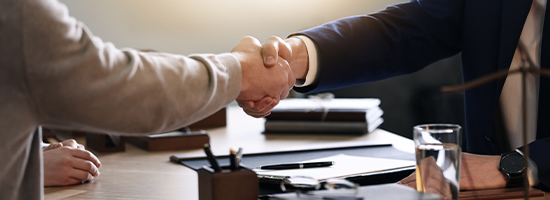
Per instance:
[[[330,167],[316,167],[288,170],[262,170],[254,169],[257,174],[278,176],[309,176],[319,181],[330,178],[344,178],[356,175],[379,173],[389,170],[410,168],[415,166],[415,161],[396,160],[386,158],[372,158],[337,154],[334,156],[305,160],[303,162],[334,161]]]

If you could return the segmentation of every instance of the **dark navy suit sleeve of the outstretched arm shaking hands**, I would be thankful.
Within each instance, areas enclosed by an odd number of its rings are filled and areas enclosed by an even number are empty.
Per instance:
[[[315,92],[411,73],[460,51],[461,0],[414,0],[295,33],[316,44]]]

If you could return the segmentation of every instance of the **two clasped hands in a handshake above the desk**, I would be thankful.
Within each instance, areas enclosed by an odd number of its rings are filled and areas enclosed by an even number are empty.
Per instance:
[[[308,55],[301,39],[270,37],[263,45],[244,37],[231,51],[241,64],[241,92],[236,101],[250,116],[264,117],[288,96],[307,73]]]

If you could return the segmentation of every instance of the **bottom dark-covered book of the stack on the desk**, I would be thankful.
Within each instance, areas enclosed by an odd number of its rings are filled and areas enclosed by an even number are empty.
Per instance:
[[[365,134],[374,131],[384,119],[366,121],[266,120],[264,133],[340,133]]]

